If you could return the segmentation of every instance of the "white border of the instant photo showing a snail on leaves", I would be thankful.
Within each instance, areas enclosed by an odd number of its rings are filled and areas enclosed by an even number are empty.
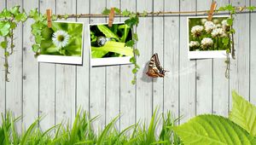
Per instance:
[[[125,24],[125,22],[114,22],[113,24]],[[108,23],[89,24],[89,26],[88,26],[88,28],[89,28],[89,32],[88,32],[89,33],[89,40],[90,40],[90,26],[97,26],[97,25],[108,25]],[[90,49],[90,66],[91,67],[131,64],[131,62],[130,62],[131,56],[92,58],[91,57],[90,41],[89,41],[89,49]]]

